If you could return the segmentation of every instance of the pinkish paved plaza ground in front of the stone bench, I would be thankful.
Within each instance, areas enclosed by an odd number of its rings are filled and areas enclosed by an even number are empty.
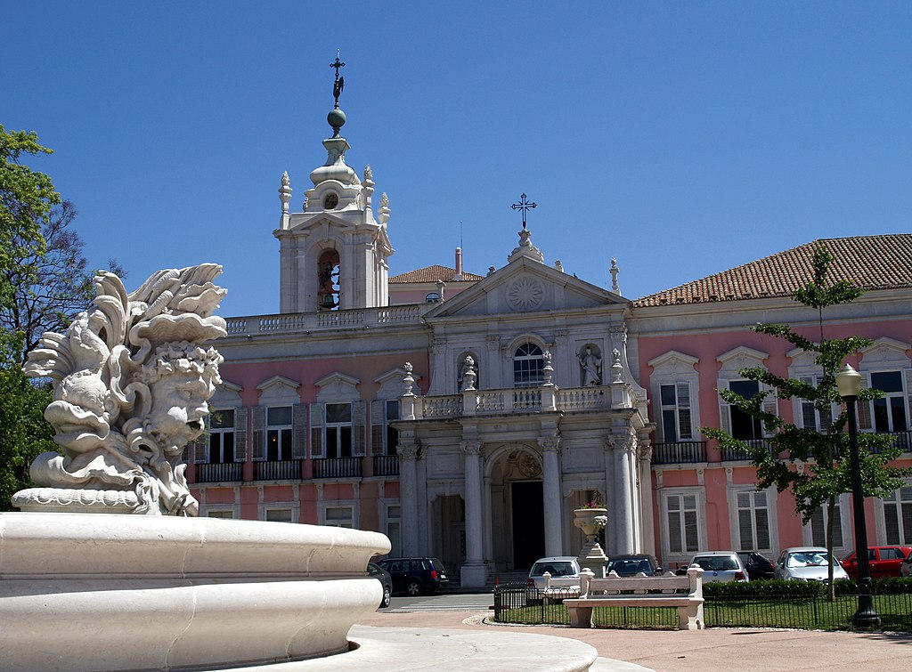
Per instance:
[[[490,595],[489,595],[490,596]],[[594,646],[599,656],[656,670],[875,669],[903,668],[912,660],[912,633],[859,634],[807,630],[710,628],[695,632],[662,630],[582,630],[562,626],[486,625],[490,612],[421,610],[378,611],[361,625],[445,627],[515,631],[572,637]]]

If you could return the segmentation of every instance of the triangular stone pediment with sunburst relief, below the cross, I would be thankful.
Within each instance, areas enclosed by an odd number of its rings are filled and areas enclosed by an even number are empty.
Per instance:
[[[606,289],[523,257],[446,299],[425,317],[509,315],[626,304],[627,299]]]

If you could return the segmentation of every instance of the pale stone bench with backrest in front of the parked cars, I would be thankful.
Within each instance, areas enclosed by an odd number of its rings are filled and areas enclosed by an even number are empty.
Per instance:
[[[682,589],[688,593],[676,592]],[[604,579],[596,579],[585,569],[580,573],[579,597],[564,600],[564,605],[573,627],[592,627],[592,610],[596,606],[674,606],[678,609],[679,629],[702,630],[703,570],[694,565],[686,576],[669,572],[664,576],[638,574],[621,578],[612,572]]]

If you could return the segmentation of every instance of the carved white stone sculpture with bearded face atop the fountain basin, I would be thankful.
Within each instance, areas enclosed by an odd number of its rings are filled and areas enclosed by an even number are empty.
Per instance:
[[[93,306],[65,334],[47,332],[26,374],[50,377],[45,418],[64,454],[31,465],[39,486],[18,491],[23,511],[197,515],[181,463],[199,438],[206,401],[222,382],[222,356],[206,341],[226,335],[212,315],[225,295],[218,264],[153,274],[127,294],[120,278],[95,276]]]

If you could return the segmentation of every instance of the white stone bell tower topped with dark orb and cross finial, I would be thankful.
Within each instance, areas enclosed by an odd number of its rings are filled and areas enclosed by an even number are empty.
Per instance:
[[[273,233],[281,262],[279,305],[283,313],[370,308],[389,305],[387,280],[393,248],[387,235],[389,199],[380,199],[378,219],[371,204],[374,180],[370,166],[363,179],[345,162],[351,149],[339,134],[346,114],[339,109],[345,63],[336,57],[335,107],[326,116],[332,137],[323,140],[326,163],[310,173],[303,212],[290,212],[291,180],[282,176],[282,216]]]

